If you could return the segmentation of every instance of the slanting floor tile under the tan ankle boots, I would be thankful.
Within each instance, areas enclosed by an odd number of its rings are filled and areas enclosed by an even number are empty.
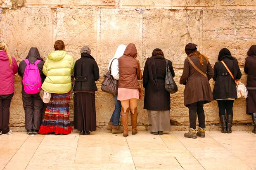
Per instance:
[[[206,170],[250,169],[233,153],[225,149],[207,134],[206,137],[197,137],[197,139],[185,138],[183,136],[184,132],[173,132],[173,134]]]

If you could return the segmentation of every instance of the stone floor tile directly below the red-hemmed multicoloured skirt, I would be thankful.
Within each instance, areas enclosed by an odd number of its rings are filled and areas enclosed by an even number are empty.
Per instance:
[[[79,135],[45,135],[27,168],[44,164],[47,167],[74,163]]]

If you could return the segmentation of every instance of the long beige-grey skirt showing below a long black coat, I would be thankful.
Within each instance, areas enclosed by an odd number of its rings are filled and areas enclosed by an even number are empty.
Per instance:
[[[149,116],[150,132],[171,131],[170,110],[147,110],[147,113]]]

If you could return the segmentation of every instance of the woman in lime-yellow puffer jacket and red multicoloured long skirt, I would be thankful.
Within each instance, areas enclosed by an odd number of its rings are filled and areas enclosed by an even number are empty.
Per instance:
[[[67,135],[73,130],[69,121],[69,99],[75,62],[72,56],[66,54],[62,40],[57,40],[54,48],[43,66],[46,78],[42,89],[51,93],[51,98],[39,133]]]

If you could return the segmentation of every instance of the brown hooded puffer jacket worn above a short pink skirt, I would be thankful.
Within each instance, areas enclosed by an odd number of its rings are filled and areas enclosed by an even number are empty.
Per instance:
[[[140,63],[137,59],[137,49],[133,43],[130,43],[119,58],[119,81],[118,87],[139,89],[138,80],[141,80]]]

